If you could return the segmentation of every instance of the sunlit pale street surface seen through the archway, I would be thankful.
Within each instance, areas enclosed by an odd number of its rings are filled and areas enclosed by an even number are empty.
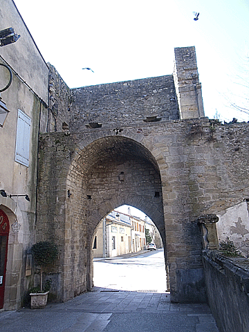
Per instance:
[[[122,291],[159,291],[165,293],[166,272],[163,249],[142,252],[133,257],[95,259],[95,286]]]

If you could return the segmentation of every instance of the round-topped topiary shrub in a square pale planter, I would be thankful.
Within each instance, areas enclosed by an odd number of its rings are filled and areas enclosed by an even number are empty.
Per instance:
[[[43,287],[43,273],[46,266],[52,264],[57,258],[57,246],[54,243],[41,241],[35,243],[31,252],[35,264],[41,267],[40,285],[31,289],[31,309],[44,308],[48,300],[50,281],[47,281]]]

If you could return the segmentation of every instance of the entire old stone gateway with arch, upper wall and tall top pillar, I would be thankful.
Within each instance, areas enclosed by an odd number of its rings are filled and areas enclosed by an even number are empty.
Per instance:
[[[91,290],[95,230],[127,204],[160,232],[172,301],[205,302],[198,220],[248,197],[249,136],[246,123],[205,118],[195,48],[175,49],[173,75],[79,89],[50,66],[49,89],[36,236],[59,247],[57,299]]]

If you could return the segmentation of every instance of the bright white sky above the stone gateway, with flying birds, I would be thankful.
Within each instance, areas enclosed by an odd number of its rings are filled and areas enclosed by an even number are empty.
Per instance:
[[[171,75],[174,48],[195,46],[205,116],[249,120],[230,106],[249,109],[249,0],[15,4],[45,61],[70,88]],[[198,21],[193,12],[200,12]]]

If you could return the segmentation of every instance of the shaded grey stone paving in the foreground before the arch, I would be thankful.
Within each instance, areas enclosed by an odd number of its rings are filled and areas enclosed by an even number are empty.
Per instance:
[[[169,293],[93,288],[46,308],[0,313],[1,332],[219,332],[207,304],[172,304]]]

